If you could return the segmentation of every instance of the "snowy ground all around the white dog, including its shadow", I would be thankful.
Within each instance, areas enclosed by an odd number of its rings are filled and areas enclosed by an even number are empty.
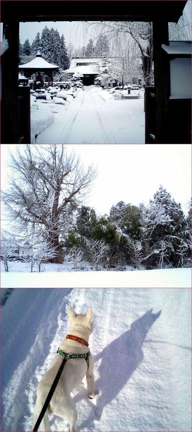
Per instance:
[[[85,378],[72,392],[76,431],[191,431],[191,289],[78,288],[13,289],[1,307],[1,430],[31,430],[69,305],[94,311],[96,398]],[[68,431],[49,418],[52,431]]]

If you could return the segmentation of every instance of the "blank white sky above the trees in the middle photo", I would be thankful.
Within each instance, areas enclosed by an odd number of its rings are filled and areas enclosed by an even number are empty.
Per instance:
[[[0,145],[2,189],[9,175],[7,152],[14,152],[15,146]],[[98,177],[87,202],[97,213],[109,214],[120,200],[148,204],[160,184],[187,212],[192,178],[190,144],[68,144],[67,148],[80,154],[85,167],[92,162],[98,165]]]

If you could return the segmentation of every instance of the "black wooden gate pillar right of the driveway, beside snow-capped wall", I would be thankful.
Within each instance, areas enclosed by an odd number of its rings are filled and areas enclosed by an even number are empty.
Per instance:
[[[168,99],[170,76],[164,62],[162,44],[169,45],[168,22],[153,21],[154,88],[156,98],[155,143],[168,142]]]

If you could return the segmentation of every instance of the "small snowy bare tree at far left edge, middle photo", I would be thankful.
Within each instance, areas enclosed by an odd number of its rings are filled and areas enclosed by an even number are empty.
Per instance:
[[[10,260],[14,260],[17,257],[16,254],[16,239],[14,235],[7,234],[6,237],[1,234],[1,248],[0,248],[0,258],[5,266],[5,271],[9,272]]]

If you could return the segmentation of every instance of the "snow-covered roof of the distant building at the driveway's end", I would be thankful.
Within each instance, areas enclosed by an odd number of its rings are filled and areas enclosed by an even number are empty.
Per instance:
[[[66,73],[99,73],[99,58],[79,58],[74,57],[70,62],[69,69],[66,69]]]

